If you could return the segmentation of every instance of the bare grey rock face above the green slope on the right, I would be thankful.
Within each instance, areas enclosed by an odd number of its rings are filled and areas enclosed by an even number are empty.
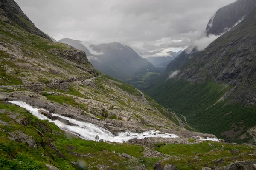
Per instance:
[[[255,105],[252,93],[256,77],[255,39],[256,12],[253,11],[241,24],[186,62],[178,77],[196,83],[205,82],[207,78],[214,82],[226,82],[236,88],[232,92],[233,102]]]

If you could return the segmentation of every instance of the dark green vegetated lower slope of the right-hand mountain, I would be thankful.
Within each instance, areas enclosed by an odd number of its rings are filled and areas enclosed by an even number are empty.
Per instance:
[[[192,84],[170,79],[147,91],[147,94],[164,107],[186,116],[189,125],[196,130],[215,134],[221,139],[229,139],[221,133],[231,130],[232,125],[238,127],[236,131],[244,126],[244,130],[241,132],[243,134],[256,124],[255,108],[230,104],[228,100],[216,103],[230,88],[225,84],[210,81]],[[179,114],[178,116],[180,116]],[[233,136],[231,139],[234,142],[246,142],[251,139],[250,137],[242,141],[236,140],[239,135]]]

